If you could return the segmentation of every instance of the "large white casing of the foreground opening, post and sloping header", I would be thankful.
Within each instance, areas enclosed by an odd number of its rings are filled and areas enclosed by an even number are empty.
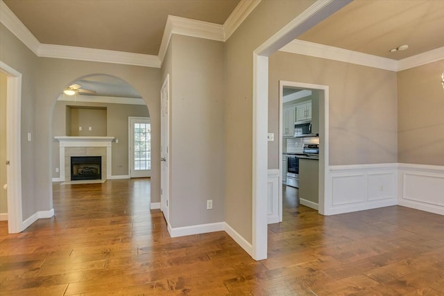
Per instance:
[[[255,260],[266,259],[268,171],[268,56],[352,0],[318,0],[253,51],[252,246]],[[325,117],[328,124],[328,116]],[[325,139],[328,141],[328,139]],[[328,164],[328,162],[327,162]],[[321,207],[321,204],[319,205]]]

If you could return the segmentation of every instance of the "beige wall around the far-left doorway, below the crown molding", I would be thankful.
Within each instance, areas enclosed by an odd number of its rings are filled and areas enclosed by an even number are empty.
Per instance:
[[[41,171],[39,167],[35,165],[34,156],[38,145],[36,137],[39,130],[35,125],[38,60],[34,53],[12,35],[3,24],[0,24],[0,36],[0,60],[16,71],[19,71],[19,73],[22,73],[22,113],[20,123],[22,133],[20,134],[20,140],[22,164],[26,164],[26,167],[22,168],[22,216],[23,220],[26,220],[40,209],[40,202],[46,204],[45,209],[49,209],[49,195],[37,195],[36,189],[40,184],[35,181],[35,175],[44,175],[46,172]],[[33,141],[27,140],[28,132],[31,132]],[[47,153],[48,149],[46,149],[46,154]],[[47,173],[49,177],[49,171],[47,171]]]

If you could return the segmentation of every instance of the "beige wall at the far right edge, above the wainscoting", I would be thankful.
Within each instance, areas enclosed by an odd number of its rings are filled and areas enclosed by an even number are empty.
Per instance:
[[[398,162],[444,166],[444,60],[398,72]]]

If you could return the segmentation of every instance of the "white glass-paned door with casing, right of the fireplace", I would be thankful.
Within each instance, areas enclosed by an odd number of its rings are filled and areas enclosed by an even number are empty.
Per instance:
[[[148,117],[128,117],[130,177],[151,177],[151,123]]]

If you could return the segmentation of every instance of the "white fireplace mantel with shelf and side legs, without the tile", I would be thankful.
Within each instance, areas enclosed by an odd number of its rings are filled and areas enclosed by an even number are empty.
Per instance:
[[[114,137],[54,137],[54,139],[59,141],[59,151],[60,151],[60,181],[65,181],[65,177],[68,176],[68,165],[66,164],[66,158],[65,158],[65,149],[70,150],[78,150],[78,148],[87,148],[87,150],[96,150],[100,149],[101,147],[106,147],[106,153],[105,155],[102,155],[102,157],[105,157],[105,162],[102,162],[102,166],[106,166],[106,179],[111,178],[111,172],[112,172],[112,141],[114,140]],[[71,148],[72,147],[72,148]],[[78,148],[75,148],[78,147]],[[102,148],[103,149],[103,148]],[[78,156],[87,156],[88,153],[85,155],[78,155]],[[96,155],[96,153],[94,153]],[[70,175],[70,174],[69,174]],[[102,174],[102,179],[105,179],[105,176]]]

